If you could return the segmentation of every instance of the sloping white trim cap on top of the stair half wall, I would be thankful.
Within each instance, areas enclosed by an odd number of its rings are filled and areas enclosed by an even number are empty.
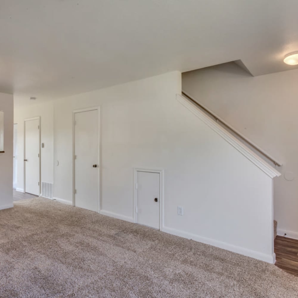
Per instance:
[[[257,154],[255,154],[252,150],[246,147],[243,143],[241,143],[238,139],[236,139],[232,134],[218,125],[211,118],[206,116],[199,108],[195,107],[191,104],[185,97],[180,94],[176,95],[176,99],[184,105],[190,112],[192,112],[196,117],[201,119],[207,126],[209,126],[213,131],[219,134],[223,139],[225,139],[229,144],[231,144],[235,149],[237,149],[241,154],[243,154],[247,159],[249,159],[253,164],[255,164],[260,170],[262,170],[265,174],[267,174],[270,178],[280,176],[280,172],[278,172],[274,167],[271,167],[267,162],[260,158]]]

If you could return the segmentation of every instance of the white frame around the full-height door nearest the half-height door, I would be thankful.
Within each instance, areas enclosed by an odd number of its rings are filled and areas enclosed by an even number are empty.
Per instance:
[[[97,183],[97,212],[101,209],[101,143],[100,143],[100,107],[83,108],[72,111],[72,206],[75,206],[75,114],[88,111],[97,111],[97,164],[98,164],[98,183]]]

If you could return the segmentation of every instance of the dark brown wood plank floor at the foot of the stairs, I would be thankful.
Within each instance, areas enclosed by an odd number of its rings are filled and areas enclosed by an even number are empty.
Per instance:
[[[298,240],[277,236],[274,240],[275,266],[298,276]]]

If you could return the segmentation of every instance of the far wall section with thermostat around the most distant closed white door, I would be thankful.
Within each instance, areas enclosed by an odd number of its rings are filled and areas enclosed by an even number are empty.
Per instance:
[[[40,116],[41,143],[41,181],[54,182],[53,157],[54,157],[54,132],[53,102],[30,106],[16,106],[14,111],[14,123],[18,123],[18,183],[17,190],[24,190],[24,121],[32,117]]]

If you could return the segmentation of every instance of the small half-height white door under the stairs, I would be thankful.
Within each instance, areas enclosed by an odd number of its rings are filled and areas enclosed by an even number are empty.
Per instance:
[[[160,173],[137,171],[137,223],[160,228]]]

